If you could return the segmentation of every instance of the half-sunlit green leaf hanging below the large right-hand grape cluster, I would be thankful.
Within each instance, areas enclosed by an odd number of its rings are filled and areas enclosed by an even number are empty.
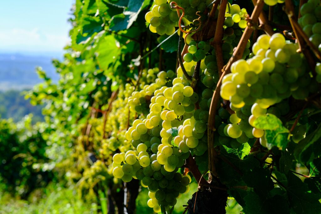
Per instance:
[[[289,130],[282,125],[282,121],[273,114],[259,116],[254,121],[254,127],[265,130],[265,139],[268,149],[277,146],[282,150],[288,145]]]

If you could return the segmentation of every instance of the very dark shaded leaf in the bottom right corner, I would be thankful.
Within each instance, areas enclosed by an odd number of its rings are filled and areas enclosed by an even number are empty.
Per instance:
[[[292,173],[288,177],[288,192],[290,206],[296,213],[320,213],[321,203],[319,198],[308,189],[300,178]]]

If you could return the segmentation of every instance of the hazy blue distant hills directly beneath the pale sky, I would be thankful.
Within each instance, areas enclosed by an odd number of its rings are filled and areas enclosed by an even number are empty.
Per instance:
[[[22,55],[0,53],[0,90],[30,89],[35,84],[42,82],[36,73],[40,66],[53,81],[57,81],[56,73],[48,55]]]

